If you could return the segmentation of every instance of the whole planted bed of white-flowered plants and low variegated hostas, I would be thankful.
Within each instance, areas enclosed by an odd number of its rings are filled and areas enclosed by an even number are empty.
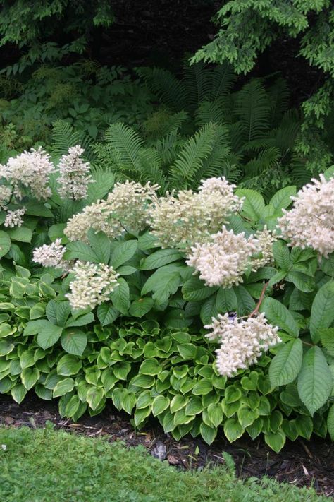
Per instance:
[[[266,203],[218,177],[113,185],[81,156],[1,167],[0,391],[207,443],[333,436],[333,169]]]

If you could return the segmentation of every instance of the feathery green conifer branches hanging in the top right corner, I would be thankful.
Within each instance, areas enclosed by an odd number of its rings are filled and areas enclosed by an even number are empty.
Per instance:
[[[324,169],[332,153],[321,133],[333,119],[334,16],[330,0],[231,0],[217,14],[220,29],[215,39],[199,49],[192,62],[231,64],[237,73],[248,73],[258,54],[281,37],[297,38],[299,53],[325,73],[325,83],[302,105],[304,123],[297,145],[314,172]]]

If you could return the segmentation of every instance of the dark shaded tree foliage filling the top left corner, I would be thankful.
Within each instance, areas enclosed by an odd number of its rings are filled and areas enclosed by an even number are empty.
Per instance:
[[[57,61],[67,54],[82,54],[92,41],[94,28],[109,27],[114,16],[106,0],[74,3],[68,0],[1,0],[0,47],[18,44],[27,52],[7,74],[22,73],[36,61]],[[59,45],[54,40],[67,40]]]

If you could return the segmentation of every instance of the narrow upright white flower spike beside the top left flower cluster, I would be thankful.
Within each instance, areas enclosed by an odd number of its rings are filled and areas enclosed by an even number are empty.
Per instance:
[[[61,197],[78,201],[87,196],[87,187],[93,183],[89,174],[89,162],[84,162],[80,155],[85,150],[80,145],[68,149],[68,155],[63,155],[58,164],[58,193]]]

